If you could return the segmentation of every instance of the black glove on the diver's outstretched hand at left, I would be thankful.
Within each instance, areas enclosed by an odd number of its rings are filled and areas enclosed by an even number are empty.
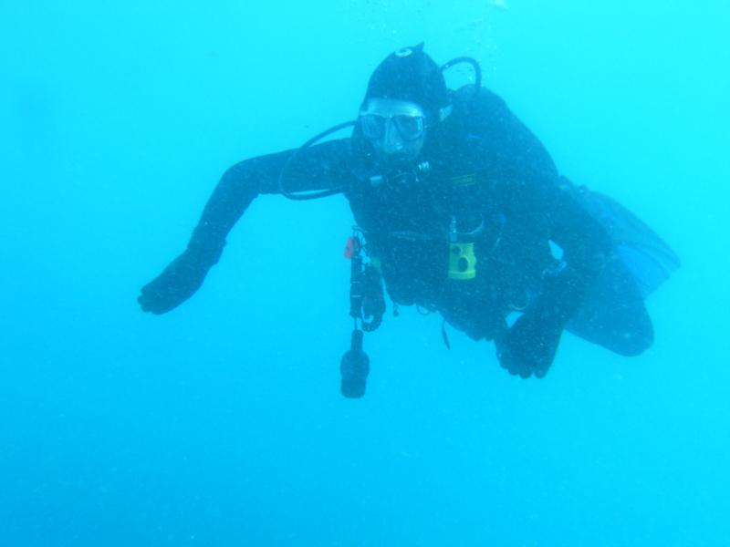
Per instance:
[[[162,274],[144,285],[137,298],[145,312],[165,314],[183,304],[203,284],[208,268],[190,253],[183,253]]]

